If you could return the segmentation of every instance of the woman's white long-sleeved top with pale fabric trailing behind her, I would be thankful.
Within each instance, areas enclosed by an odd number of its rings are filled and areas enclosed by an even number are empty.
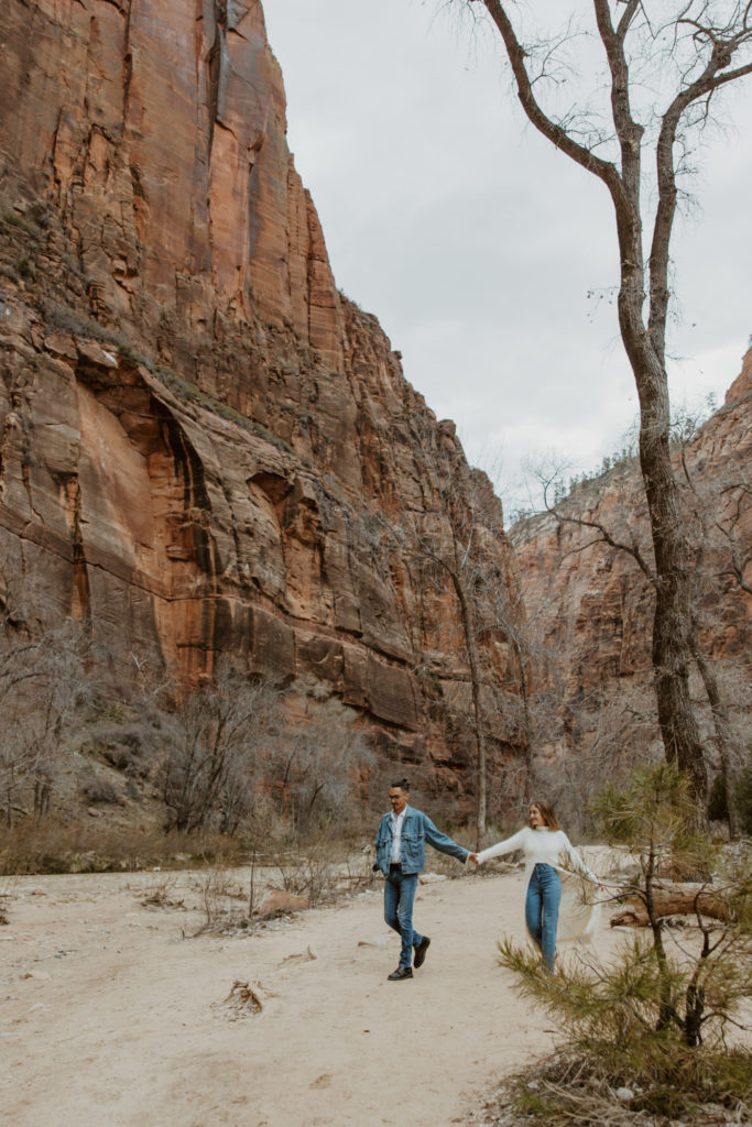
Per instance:
[[[586,903],[592,899],[590,882],[600,884],[594,872],[587,868],[580,853],[563,829],[548,826],[525,826],[503,842],[490,845],[478,853],[478,864],[494,857],[503,857],[521,849],[525,858],[524,898],[532,870],[537,864],[550,864],[561,878],[561,904],[557,929],[557,943],[590,942],[600,921],[600,904]],[[574,870],[574,871],[573,871]]]

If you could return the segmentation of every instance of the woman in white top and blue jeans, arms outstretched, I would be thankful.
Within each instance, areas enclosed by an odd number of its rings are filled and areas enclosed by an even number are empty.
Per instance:
[[[573,878],[570,870],[602,886],[560,828],[548,802],[532,802],[529,825],[506,841],[477,853],[476,863],[483,864],[516,849],[524,850],[525,855],[528,931],[542,955],[543,967],[552,971],[557,932],[559,940],[589,941],[598,925],[598,905],[583,904],[581,881]]]

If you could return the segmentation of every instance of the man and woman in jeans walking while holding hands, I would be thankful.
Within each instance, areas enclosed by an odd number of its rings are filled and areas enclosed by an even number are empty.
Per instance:
[[[483,864],[494,857],[522,850],[525,859],[525,923],[541,952],[543,967],[554,970],[557,935],[560,940],[589,939],[598,924],[598,906],[584,904],[576,889],[567,889],[563,902],[560,872],[575,873],[600,885],[556,820],[548,802],[531,802],[524,829],[479,853],[458,845],[436,829],[431,818],[408,804],[406,779],[389,788],[391,811],[384,814],[375,838],[377,861],[386,877],[384,920],[401,939],[399,966],[390,982],[413,977],[413,967],[425,961],[431,940],[413,929],[413,902],[418,873],[425,863],[425,843],[458,861]]]

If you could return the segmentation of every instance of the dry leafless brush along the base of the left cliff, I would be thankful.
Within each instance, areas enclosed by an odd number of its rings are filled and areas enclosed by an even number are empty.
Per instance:
[[[116,690],[86,622],[42,630],[10,588],[0,602],[0,872],[240,859],[335,813],[342,840],[372,820],[374,756],[337,701],[287,702],[223,663],[193,689],[141,663]]]

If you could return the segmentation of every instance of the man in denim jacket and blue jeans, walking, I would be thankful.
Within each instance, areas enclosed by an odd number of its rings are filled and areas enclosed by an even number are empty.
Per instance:
[[[391,784],[391,814],[384,814],[375,838],[377,861],[373,868],[381,869],[387,878],[383,887],[383,917],[402,940],[399,966],[388,976],[389,982],[412,978],[413,966],[423,966],[431,942],[427,935],[413,931],[413,902],[418,873],[423,872],[425,864],[426,841],[440,853],[449,853],[458,861],[467,861],[468,858],[475,860],[475,853],[436,829],[426,814],[408,806],[408,798],[407,779]]]

